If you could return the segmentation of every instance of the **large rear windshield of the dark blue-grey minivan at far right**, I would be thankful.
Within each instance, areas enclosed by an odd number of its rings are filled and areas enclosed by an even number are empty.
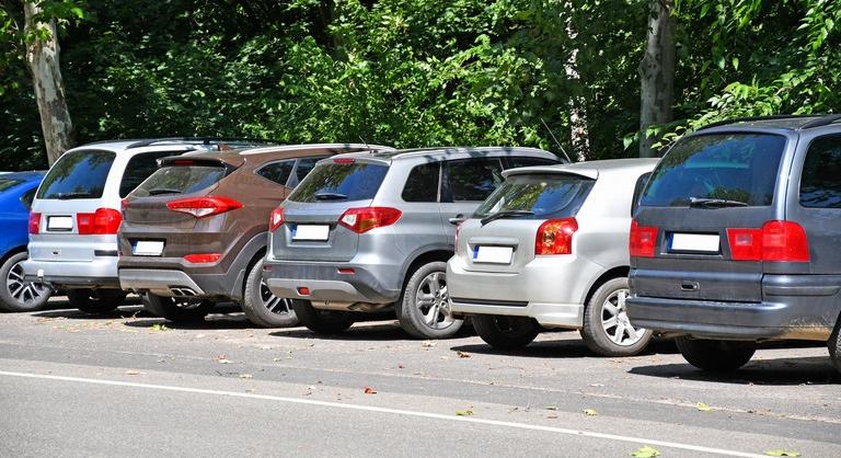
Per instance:
[[[683,207],[690,199],[726,199],[769,206],[785,137],[726,134],[689,137],[654,171],[641,206]]]

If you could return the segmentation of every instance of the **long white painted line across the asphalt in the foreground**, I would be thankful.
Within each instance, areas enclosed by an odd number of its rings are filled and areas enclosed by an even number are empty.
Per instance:
[[[112,387],[145,388],[150,390],[176,391],[176,392],[185,392],[185,393],[193,393],[193,394],[210,394],[210,396],[221,396],[221,397],[230,397],[230,398],[258,399],[264,401],[286,402],[286,403],[292,403],[292,404],[318,405],[318,407],[324,407],[324,408],[388,413],[392,415],[445,420],[450,422],[463,422],[463,423],[483,424],[483,425],[489,425],[489,426],[502,426],[502,427],[508,427],[508,428],[541,431],[546,433],[564,434],[569,436],[592,437],[592,438],[599,438],[599,439],[625,442],[625,443],[632,443],[637,445],[649,445],[649,446],[658,445],[661,447],[677,448],[681,450],[692,450],[692,451],[701,451],[701,453],[717,454],[717,455],[729,455],[734,457],[767,458],[767,456],[759,455],[759,454],[727,450],[724,448],[704,447],[704,446],[692,445],[692,444],[681,444],[681,443],[675,443],[675,442],[668,442],[668,440],[621,436],[618,434],[596,433],[596,432],[589,432],[589,431],[569,430],[565,427],[541,426],[541,425],[533,425],[528,423],[504,422],[499,420],[477,419],[474,416],[456,416],[456,415],[445,415],[445,414],[431,413],[431,412],[378,408],[372,405],[346,404],[346,403],[331,402],[331,401],[316,401],[313,399],[285,398],[279,396],[254,394],[254,393],[243,393],[243,392],[222,391],[222,390],[208,390],[204,388],[175,387],[170,385],[138,383],[134,381],[101,380],[101,379],[93,379],[93,378],[66,377],[66,376],[55,376],[55,375],[46,375],[46,374],[13,373],[13,371],[7,371],[7,370],[0,370],[0,376],[69,381],[69,382],[78,382],[78,383],[105,385],[105,386],[112,386]]]

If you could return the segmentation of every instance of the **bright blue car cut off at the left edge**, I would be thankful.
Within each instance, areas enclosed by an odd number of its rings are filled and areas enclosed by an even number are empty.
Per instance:
[[[43,284],[24,282],[30,205],[46,172],[0,174],[0,310],[31,311],[53,293]]]

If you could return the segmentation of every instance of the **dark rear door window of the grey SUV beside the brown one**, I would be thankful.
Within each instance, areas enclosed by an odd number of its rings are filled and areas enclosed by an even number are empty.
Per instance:
[[[452,202],[482,202],[505,182],[503,164],[497,158],[450,161],[447,170],[447,197]]]

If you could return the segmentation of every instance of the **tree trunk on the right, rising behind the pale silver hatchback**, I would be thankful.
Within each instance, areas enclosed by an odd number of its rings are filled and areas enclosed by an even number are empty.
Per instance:
[[[675,0],[649,0],[645,56],[640,62],[640,157],[653,158],[649,126],[672,121],[675,103]]]

